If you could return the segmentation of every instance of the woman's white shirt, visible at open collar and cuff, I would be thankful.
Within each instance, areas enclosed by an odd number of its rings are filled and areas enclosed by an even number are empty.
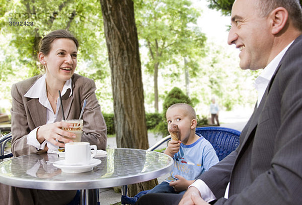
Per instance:
[[[72,94],[72,89],[71,89],[71,78],[67,80],[63,86],[61,94],[64,95],[67,89],[70,89],[71,92],[69,94],[69,97]],[[50,102],[47,98],[47,93],[46,93],[46,74],[44,74],[42,77],[40,77],[32,86],[31,88],[25,93],[25,97],[30,97],[30,98],[39,98],[39,102],[42,106],[46,108],[46,124],[54,123],[56,122],[57,114],[59,112],[60,108],[60,103],[59,103],[59,98],[57,99],[57,105],[56,105],[56,112],[54,114]],[[45,145],[47,144],[48,147],[48,152],[52,152],[53,150],[57,149],[58,146],[55,146],[51,144],[49,141],[44,141],[42,144],[39,143],[37,140],[37,130],[39,127],[35,128],[32,130],[28,135],[27,135],[27,144],[32,145],[36,147],[38,150],[42,150],[45,148]]]

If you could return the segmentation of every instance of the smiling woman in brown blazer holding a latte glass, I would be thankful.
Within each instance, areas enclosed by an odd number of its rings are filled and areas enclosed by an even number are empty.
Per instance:
[[[84,99],[84,127],[81,141],[106,148],[106,124],[95,95],[93,80],[74,74],[77,67],[78,41],[68,31],[56,30],[40,42],[38,54],[45,74],[12,86],[12,152],[15,157],[26,154],[52,152],[75,137],[61,127],[59,92],[65,119],[79,119]],[[68,137],[64,138],[62,136]],[[3,184],[2,184],[3,185]],[[66,204],[75,191],[48,191],[10,187],[6,204]],[[22,198],[22,201],[21,201]]]

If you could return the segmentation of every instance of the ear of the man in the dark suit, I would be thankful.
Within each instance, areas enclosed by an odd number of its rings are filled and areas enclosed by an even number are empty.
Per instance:
[[[278,7],[270,13],[269,18],[271,20],[272,34],[277,35],[286,27],[288,12],[285,8]]]

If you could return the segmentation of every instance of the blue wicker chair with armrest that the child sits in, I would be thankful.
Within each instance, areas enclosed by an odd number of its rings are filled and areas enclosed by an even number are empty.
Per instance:
[[[239,136],[241,132],[222,127],[199,127],[196,128],[196,133],[201,134],[205,139],[207,139],[213,146],[219,161],[224,157],[228,156],[233,152],[239,145]],[[163,138],[160,142],[156,143],[148,150],[155,150],[163,143],[171,139],[170,135]],[[146,194],[148,190],[141,191],[134,197],[127,196],[127,185],[122,187],[122,204],[135,204],[139,196]]]

